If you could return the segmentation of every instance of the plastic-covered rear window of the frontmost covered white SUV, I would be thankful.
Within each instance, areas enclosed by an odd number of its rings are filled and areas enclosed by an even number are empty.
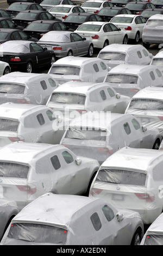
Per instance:
[[[13,223],[8,237],[36,243],[53,243],[65,245],[68,231],[53,225],[35,223]]]

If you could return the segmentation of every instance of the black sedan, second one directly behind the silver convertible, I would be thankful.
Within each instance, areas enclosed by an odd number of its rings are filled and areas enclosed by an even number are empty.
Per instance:
[[[25,10],[20,11],[12,21],[14,21],[18,26],[22,26],[24,28],[27,27],[29,22],[36,21],[36,20],[59,20],[55,18],[52,14],[48,11],[41,11],[41,10]]]

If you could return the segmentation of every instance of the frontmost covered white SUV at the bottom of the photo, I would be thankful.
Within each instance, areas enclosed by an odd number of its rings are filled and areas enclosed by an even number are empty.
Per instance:
[[[119,211],[101,198],[46,193],[14,217],[1,245],[93,245],[105,253],[96,246],[140,245],[143,234],[138,212]]]

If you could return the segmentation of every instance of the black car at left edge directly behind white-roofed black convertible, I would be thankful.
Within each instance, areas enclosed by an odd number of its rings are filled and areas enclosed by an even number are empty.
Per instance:
[[[0,29],[0,44],[13,41],[13,40],[30,40],[37,42],[36,38],[32,38],[32,36],[27,35],[25,32],[21,31],[20,29],[14,28],[1,28]]]

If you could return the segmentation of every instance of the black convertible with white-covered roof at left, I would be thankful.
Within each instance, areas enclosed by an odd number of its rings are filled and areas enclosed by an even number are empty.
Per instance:
[[[55,62],[54,52],[32,41],[7,41],[0,45],[0,60],[9,63],[11,71],[32,72],[49,68]]]

